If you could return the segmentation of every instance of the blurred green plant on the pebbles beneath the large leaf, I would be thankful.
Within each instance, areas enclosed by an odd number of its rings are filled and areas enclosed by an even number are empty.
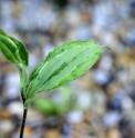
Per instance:
[[[73,109],[73,96],[70,86],[64,86],[56,91],[58,98],[39,97],[33,101],[34,107],[48,116],[64,115]]]

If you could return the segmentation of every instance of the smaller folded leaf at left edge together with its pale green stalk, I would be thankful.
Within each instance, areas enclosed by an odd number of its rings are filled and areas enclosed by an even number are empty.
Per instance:
[[[20,73],[20,85],[22,87],[28,77],[29,55],[25,47],[15,38],[0,30],[0,50],[9,61],[17,65]]]

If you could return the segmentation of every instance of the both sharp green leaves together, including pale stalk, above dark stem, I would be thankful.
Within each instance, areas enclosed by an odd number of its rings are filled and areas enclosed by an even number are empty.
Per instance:
[[[90,40],[63,43],[51,51],[28,79],[29,55],[25,47],[0,30],[0,50],[19,69],[27,108],[37,93],[59,88],[83,75],[98,60],[103,49]]]

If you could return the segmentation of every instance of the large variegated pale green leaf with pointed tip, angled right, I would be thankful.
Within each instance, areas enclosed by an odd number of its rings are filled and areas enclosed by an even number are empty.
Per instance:
[[[25,86],[25,99],[30,100],[38,92],[53,90],[76,79],[97,61],[103,49],[90,40],[56,47],[32,71]]]

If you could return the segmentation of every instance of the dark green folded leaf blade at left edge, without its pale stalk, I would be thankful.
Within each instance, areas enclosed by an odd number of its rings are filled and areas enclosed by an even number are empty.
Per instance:
[[[7,36],[0,30],[0,50],[4,57],[13,63],[28,66],[28,52],[25,47],[15,38]]]

